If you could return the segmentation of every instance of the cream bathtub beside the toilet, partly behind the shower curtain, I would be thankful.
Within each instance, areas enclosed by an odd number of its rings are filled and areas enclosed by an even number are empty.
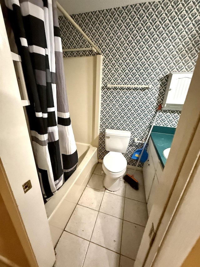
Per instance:
[[[96,147],[83,143],[76,144],[78,151],[76,171],[45,204],[54,247],[98,162]]]

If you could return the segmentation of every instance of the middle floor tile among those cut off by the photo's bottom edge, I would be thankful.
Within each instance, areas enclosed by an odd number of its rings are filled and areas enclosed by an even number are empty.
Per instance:
[[[119,254],[90,242],[83,267],[118,267]]]

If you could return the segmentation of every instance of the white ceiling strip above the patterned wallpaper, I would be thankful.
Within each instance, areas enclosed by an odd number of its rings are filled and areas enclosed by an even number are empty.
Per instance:
[[[155,0],[58,0],[68,14],[78,14],[153,1]],[[61,13],[58,15],[61,15]]]

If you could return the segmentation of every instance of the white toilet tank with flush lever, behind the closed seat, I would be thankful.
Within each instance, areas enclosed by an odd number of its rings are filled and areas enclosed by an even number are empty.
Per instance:
[[[131,132],[106,129],[105,146],[107,151],[125,153],[130,141]]]

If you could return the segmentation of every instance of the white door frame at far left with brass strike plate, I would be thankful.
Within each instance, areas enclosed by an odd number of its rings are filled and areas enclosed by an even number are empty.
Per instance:
[[[0,193],[30,266],[52,267],[53,242],[0,8]],[[4,171],[3,170],[3,171]],[[32,188],[24,193],[22,185]]]

